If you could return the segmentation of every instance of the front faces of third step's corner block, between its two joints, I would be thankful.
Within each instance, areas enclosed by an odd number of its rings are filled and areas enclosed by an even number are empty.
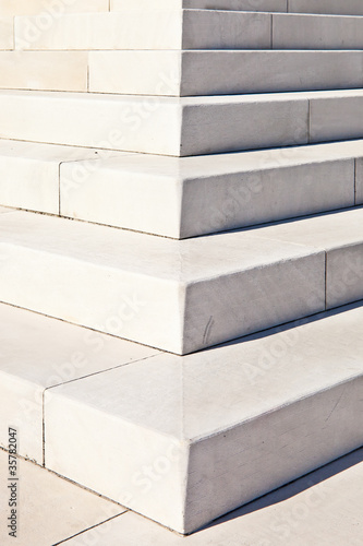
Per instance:
[[[183,239],[355,204],[354,159],[271,170],[262,162],[252,173],[184,179],[182,192],[178,175],[123,171],[122,163],[119,168],[63,164],[61,215]]]

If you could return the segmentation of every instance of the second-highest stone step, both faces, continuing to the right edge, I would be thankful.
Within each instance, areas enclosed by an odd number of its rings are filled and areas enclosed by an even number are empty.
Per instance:
[[[217,10],[16,17],[15,49],[363,49],[361,16]]]

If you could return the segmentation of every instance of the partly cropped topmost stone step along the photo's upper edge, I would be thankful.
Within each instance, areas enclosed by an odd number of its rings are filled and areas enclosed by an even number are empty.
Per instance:
[[[363,15],[361,0],[111,0],[111,10],[197,9]]]

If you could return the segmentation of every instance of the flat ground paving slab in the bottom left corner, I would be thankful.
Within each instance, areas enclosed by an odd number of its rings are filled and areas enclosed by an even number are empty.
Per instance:
[[[21,431],[20,431],[21,432]],[[19,441],[22,441],[17,437]],[[12,461],[13,462],[13,461]],[[49,546],[120,515],[125,510],[96,495],[70,484],[39,466],[16,460],[17,505],[14,535],[9,535],[9,455],[0,450],[0,541],[4,546]]]

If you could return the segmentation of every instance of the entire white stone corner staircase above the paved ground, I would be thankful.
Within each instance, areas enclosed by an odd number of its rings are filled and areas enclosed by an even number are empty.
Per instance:
[[[2,447],[189,534],[363,444],[362,15],[2,2]]]

